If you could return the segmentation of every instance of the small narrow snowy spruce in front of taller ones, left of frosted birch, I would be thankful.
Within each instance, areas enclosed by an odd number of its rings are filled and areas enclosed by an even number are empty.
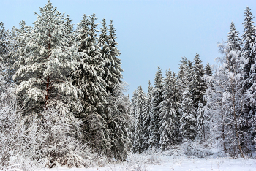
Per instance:
[[[197,134],[200,137],[203,137],[203,140],[206,140],[206,132],[205,132],[206,117],[204,115],[203,104],[201,102],[198,102],[196,118],[197,118]]]

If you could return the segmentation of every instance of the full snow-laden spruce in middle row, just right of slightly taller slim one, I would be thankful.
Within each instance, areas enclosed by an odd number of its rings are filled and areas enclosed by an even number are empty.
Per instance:
[[[175,102],[173,100],[174,95],[174,86],[176,85],[173,82],[173,75],[170,69],[166,72],[166,78],[164,83],[164,94],[163,101],[159,104],[159,131],[160,135],[159,145],[162,150],[166,150],[170,145],[173,145],[176,142],[176,120],[177,114],[175,110]]]

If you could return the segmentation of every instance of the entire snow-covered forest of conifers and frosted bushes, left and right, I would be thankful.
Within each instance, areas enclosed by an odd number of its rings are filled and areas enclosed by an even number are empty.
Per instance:
[[[255,159],[256,27],[249,7],[243,33],[231,22],[218,43],[217,65],[204,66],[198,53],[193,61],[182,57],[178,73],[159,66],[147,92],[138,86],[131,97],[113,20],[83,15],[75,27],[49,0],[35,15],[34,26],[22,20],[7,30],[0,23],[0,170],[129,161],[145,171],[131,158],[145,153],[147,164],[157,163],[152,153]]]

